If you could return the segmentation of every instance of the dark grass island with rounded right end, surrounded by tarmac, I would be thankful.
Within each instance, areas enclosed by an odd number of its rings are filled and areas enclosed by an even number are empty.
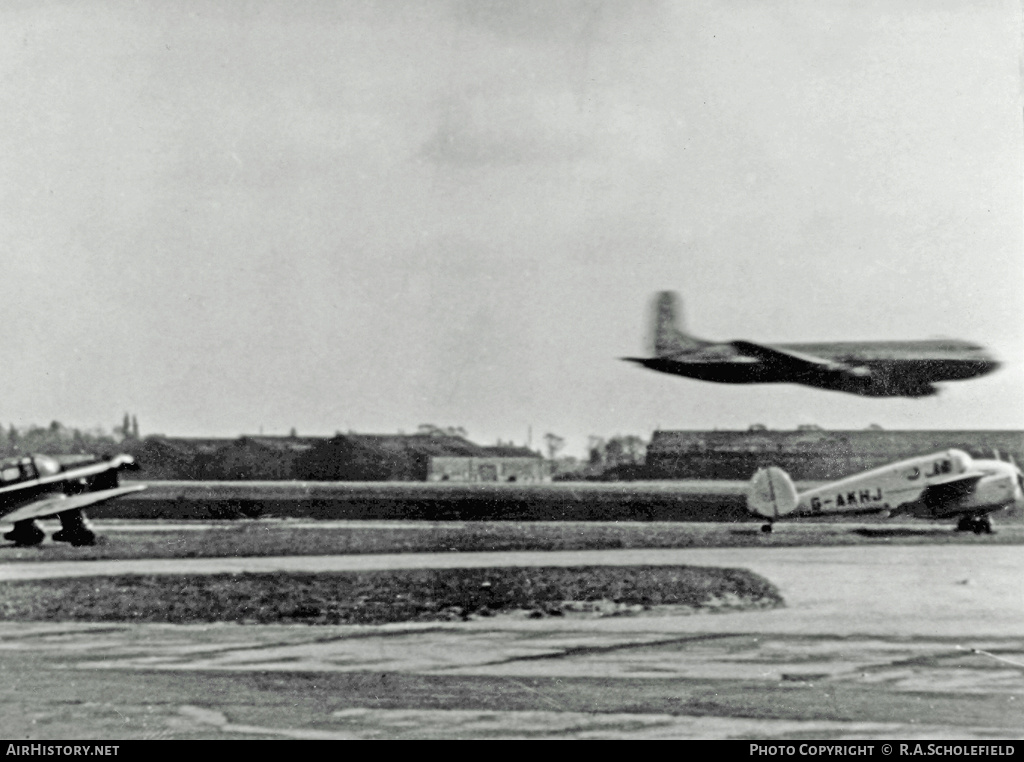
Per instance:
[[[377,625],[522,609],[558,616],[781,604],[775,587],[752,572],[702,566],[125,575],[0,584],[2,620],[78,622]]]

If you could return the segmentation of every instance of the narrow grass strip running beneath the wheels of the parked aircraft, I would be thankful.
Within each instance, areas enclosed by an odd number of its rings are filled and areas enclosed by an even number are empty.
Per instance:
[[[56,525],[54,525],[55,528]],[[844,522],[779,524],[764,535],[758,523],[516,522],[466,524],[423,522],[410,527],[289,526],[284,521],[239,521],[207,531],[119,532],[97,524],[97,544],[73,548],[46,540],[32,548],[0,544],[0,564],[118,558],[217,558],[223,556],[431,553],[504,550],[608,550],[615,548],[736,548],[765,546],[1007,545],[1024,543],[1024,526],[1000,524],[982,537],[949,525],[920,522],[913,527],[884,522],[864,530]]]

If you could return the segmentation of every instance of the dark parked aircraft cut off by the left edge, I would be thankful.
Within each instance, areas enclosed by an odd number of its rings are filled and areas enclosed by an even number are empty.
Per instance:
[[[46,536],[37,519],[57,516],[56,542],[92,545],[96,536],[82,509],[144,484],[119,486],[118,472],[137,468],[130,455],[63,467],[45,455],[23,455],[0,461],[0,522],[14,528],[3,538],[15,545],[38,545]]]

